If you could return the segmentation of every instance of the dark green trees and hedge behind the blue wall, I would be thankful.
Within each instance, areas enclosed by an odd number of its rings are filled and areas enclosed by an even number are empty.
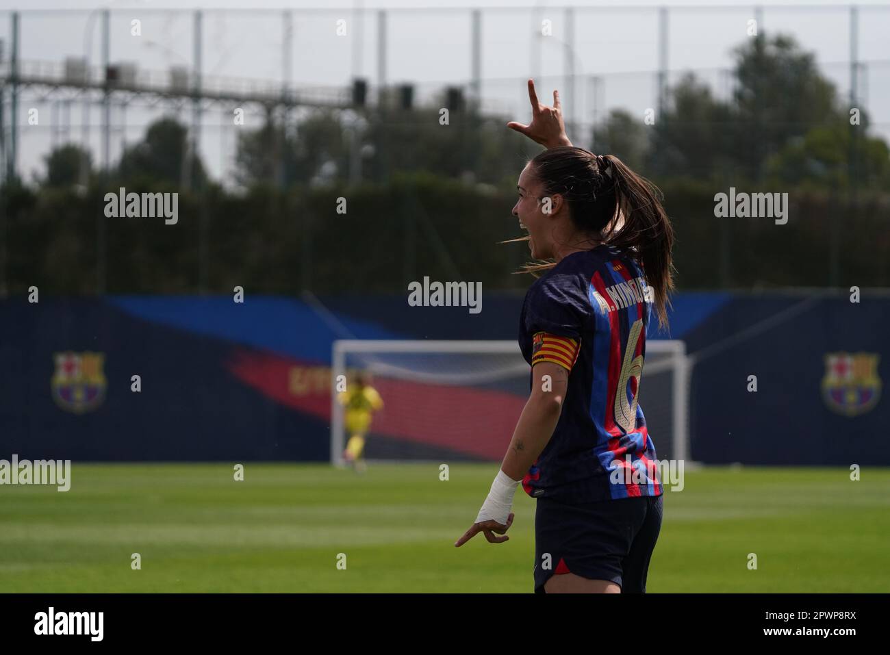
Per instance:
[[[693,74],[647,124],[616,109],[593,142],[656,182],[678,235],[683,288],[890,285],[890,150],[812,53],[787,36],[734,51],[731,97]],[[424,275],[522,288],[528,256],[510,209],[539,147],[515,117],[439,106],[317,111],[242,130],[223,187],[174,118],[150,125],[109,171],[63,145],[45,174],[0,190],[0,288],[49,293],[402,293]],[[360,169],[360,174],[357,170]],[[177,192],[175,225],[104,216],[104,195]],[[790,220],[714,216],[730,187],[788,192]],[[459,276],[459,277],[457,277]],[[867,280],[867,281],[866,281]]]

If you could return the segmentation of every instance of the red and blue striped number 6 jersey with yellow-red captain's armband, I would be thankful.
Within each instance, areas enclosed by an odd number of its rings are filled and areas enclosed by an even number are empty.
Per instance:
[[[533,365],[543,350],[570,370],[553,436],[522,480],[531,497],[583,503],[661,495],[655,445],[637,403],[652,301],[639,264],[608,245],[563,257],[525,295],[522,356]]]

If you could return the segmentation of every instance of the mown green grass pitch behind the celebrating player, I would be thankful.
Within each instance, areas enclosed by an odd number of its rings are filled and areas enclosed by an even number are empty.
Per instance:
[[[67,493],[0,487],[0,591],[530,592],[522,491],[506,544],[454,547],[496,472],[247,464],[233,481],[231,465],[76,464]],[[890,590],[890,470],[708,468],[684,482],[666,494],[650,592]]]

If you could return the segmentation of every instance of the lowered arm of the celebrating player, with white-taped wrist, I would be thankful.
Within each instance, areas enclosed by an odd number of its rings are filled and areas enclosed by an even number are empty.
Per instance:
[[[510,481],[522,480],[525,472],[545,449],[559,421],[562,402],[565,400],[565,392],[569,385],[569,371],[550,361],[535,364],[531,369],[531,376],[533,383],[529,400],[522,408],[522,414],[516,424],[510,447],[506,450],[498,478],[492,485],[485,505],[482,505],[477,522],[474,522],[470,529],[466,530],[463,537],[457,539],[455,546],[463,546],[480,532],[492,544],[501,544],[509,540],[506,531],[513,524],[514,513],[509,513],[506,519],[502,520],[488,518],[478,521],[478,519],[487,517],[490,513],[509,512],[508,504],[493,496],[506,494],[509,496],[509,504],[512,504],[513,495],[510,490],[505,488],[505,483],[506,485],[510,483],[505,478]]]

